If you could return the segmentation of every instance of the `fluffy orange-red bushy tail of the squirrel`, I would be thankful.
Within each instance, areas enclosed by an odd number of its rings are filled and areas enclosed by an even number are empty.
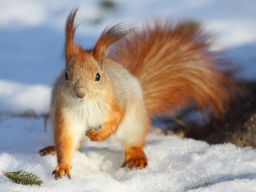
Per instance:
[[[222,115],[238,90],[226,63],[214,59],[207,36],[195,22],[146,26],[115,44],[111,59],[135,75],[149,115],[169,113],[195,102]]]

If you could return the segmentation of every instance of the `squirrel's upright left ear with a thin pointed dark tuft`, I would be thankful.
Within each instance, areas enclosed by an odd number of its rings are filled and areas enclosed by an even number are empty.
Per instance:
[[[65,57],[66,63],[75,55],[75,46],[74,46],[74,35],[77,25],[75,22],[75,15],[77,9],[72,9],[72,11],[67,15],[66,26],[65,26]]]

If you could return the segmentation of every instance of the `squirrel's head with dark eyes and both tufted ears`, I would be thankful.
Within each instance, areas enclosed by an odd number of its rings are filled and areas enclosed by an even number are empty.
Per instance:
[[[65,61],[66,67],[63,73],[65,88],[76,98],[91,97],[107,86],[104,73],[105,58],[109,46],[129,33],[122,24],[110,26],[100,35],[93,49],[83,49],[74,43],[75,15],[77,9],[73,9],[67,16],[65,26]]]

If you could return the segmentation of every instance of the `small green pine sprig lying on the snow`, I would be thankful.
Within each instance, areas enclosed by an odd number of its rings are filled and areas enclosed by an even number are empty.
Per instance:
[[[38,175],[25,170],[18,170],[14,172],[4,172],[5,177],[9,178],[14,183],[22,185],[42,185],[42,181]]]

